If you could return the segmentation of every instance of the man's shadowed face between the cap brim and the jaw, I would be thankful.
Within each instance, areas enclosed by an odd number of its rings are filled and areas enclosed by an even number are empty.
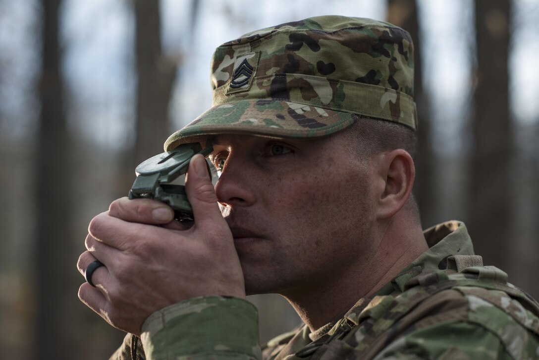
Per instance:
[[[247,294],[293,294],[368,261],[369,162],[340,134],[315,140],[219,135],[217,199],[234,236]]]

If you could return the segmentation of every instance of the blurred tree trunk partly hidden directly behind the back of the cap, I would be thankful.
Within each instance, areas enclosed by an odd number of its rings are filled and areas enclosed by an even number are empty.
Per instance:
[[[421,74],[421,49],[419,46],[419,21],[416,0],[388,0],[387,21],[408,31],[414,44],[414,99],[417,104],[418,123],[417,137],[419,151],[416,156],[416,196],[421,223],[424,227],[434,225],[437,219],[434,205],[434,185],[432,176],[433,155],[430,137],[429,99],[423,92],[423,76]]]

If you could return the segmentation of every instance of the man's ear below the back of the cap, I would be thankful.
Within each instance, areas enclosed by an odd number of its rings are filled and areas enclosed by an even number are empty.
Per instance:
[[[416,169],[412,157],[403,149],[380,154],[378,158],[376,215],[388,219],[406,203],[412,192]]]

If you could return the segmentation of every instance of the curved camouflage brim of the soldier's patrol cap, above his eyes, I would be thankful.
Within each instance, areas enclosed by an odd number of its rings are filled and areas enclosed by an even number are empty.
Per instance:
[[[248,134],[278,139],[309,139],[341,131],[356,116],[290,101],[238,100],[213,106],[165,141],[169,151],[187,142],[202,142],[208,135]]]

